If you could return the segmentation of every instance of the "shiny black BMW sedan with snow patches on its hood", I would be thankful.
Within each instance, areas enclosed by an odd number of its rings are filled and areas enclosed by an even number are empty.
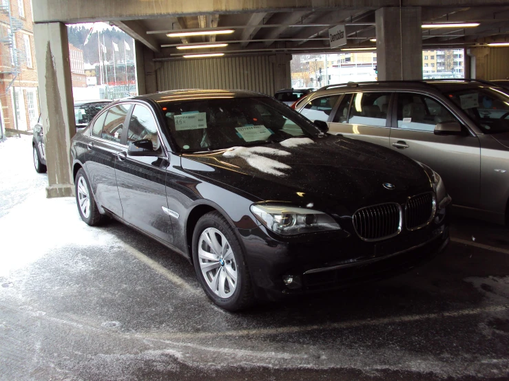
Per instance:
[[[247,91],[114,102],[72,141],[81,218],[183,254],[231,311],[380,279],[449,241],[439,175]]]

